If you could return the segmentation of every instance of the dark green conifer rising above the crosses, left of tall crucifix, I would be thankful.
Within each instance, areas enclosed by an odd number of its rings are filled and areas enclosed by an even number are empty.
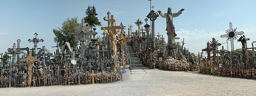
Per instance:
[[[88,6],[85,11],[86,17],[84,17],[84,22],[86,25],[90,26],[102,26],[101,22],[99,21],[98,17],[96,17],[98,14],[96,13],[95,6]]]

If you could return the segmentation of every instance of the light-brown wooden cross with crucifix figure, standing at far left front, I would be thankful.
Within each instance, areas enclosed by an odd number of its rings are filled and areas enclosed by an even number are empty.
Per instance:
[[[27,59],[21,59],[22,62],[28,63],[28,86],[31,85],[31,79],[32,79],[32,64],[34,64],[35,61],[39,61],[39,59],[35,59],[32,57],[32,51],[29,51],[29,56]]]

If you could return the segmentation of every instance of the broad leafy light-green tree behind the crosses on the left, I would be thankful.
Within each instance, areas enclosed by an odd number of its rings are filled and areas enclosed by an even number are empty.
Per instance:
[[[75,48],[76,47],[76,41],[75,38],[69,33],[74,33],[76,31],[76,26],[78,26],[79,23],[77,22],[77,17],[74,18],[67,18],[66,21],[63,21],[62,27],[57,29],[52,29],[53,33],[56,37],[54,37],[54,42],[59,43],[59,45],[64,45],[65,42],[69,42],[70,46]]]

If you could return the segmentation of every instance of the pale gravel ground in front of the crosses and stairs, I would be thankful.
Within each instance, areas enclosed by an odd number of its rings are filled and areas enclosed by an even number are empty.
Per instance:
[[[256,96],[256,80],[211,76],[198,72],[127,69],[125,81],[93,85],[2,88],[0,95]]]

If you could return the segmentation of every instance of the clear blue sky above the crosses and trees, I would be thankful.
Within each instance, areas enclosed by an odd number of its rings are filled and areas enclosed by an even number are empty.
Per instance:
[[[17,43],[20,39],[20,47],[32,48],[34,44],[28,42],[33,39],[34,33],[38,34],[38,47],[45,46],[52,53],[56,50],[51,48],[56,45],[53,41],[55,35],[52,29],[61,27],[67,18],[85,17],[85,10],[88,5],[95,5],[99,14],[101,24],[107,26],[107,17],[110,11],[116,19],[116,25],[120,22],[126,26],[132,24],[132,30],[138,30],[134,22],[140,18],[145,25],[144,19],[150,12],[150,2],[148,0],[3,0],[0,3],[0,53],[4,53],[8,48],[12,48],[12,43]],[[252,47],[252,41],[256,41],[256,1],[255,0],[152,0],[154,10],[167,12],[168,7],[172,7],[172,12],[178,12],[184,8],[185,11],[173,18],[175,30],[182,41],[185,38],[185,47],[191,52],[201,52],[206,47],[207,41],[214,37],[220,43],[226,42],[226,38],[220,38],[229,29],[229,22],[238,31],[244,31],[244,35],[250,38],[248,47]],[[166,19],[159,16],[156,19],[156,34],[166,35]],[[149,22],[150,24],[150,22]],[[103,33],[100,27],[96,27],[98,34]],[[102,35],[100,35],[102,36]],[[238,38],[240,35],[238,36]],[[230,50],[230,42],[229,50]],[[241,42],[234,41],[234,47],[241,48]],[[221,48],[221,47],[219,47]],[[227,44],[224,44],[227,49]]]

